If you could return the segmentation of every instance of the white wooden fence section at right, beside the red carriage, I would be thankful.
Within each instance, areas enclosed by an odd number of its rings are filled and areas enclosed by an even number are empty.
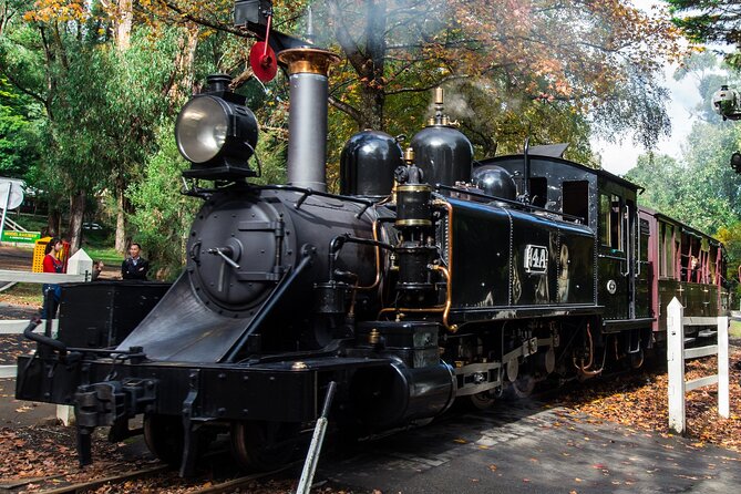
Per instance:
[[[728,317],[685,317],[685,307],[677,298],[667,310],[667,363],[669,371],[669,429],[683,434],[687,431],[685,394],[687,391],[718,383],[718,414],[730,416],[728,369]],[[718,344],[685,349],[686,326],[716,326]],[[718,356],[718,373],[685,381],[685,360]]]

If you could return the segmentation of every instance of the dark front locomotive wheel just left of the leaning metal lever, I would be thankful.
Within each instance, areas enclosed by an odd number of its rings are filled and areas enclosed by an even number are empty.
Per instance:
[[[231,451],[246,470],[276,470],[294,456],[300,431],[300,424],[294,422],[235,422],[231,424]]]

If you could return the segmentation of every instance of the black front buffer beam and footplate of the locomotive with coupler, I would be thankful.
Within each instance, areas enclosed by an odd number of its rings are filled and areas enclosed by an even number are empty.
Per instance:
[[[272,421],[301,423],[318,418],[322,385],[337,372],[389,367],[388,359],[325,358],[244,364],[195,366],[70,360],[23,356],[16,398],[74,406],[80,463],[92,462],[91,433],[111,428],[111,440],[133,435],[128,419],[140,414],[182,416],[192,470],[191,441],[198,423]],[[320,377],[321,374],[321,377]],[[322,379],[323,378],[323,379]],[[323,395],[323,394],[322,394]]]

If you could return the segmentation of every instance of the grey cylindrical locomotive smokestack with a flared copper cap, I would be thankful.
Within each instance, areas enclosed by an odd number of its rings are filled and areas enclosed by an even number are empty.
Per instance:
[[[340,59],[317,48],[285,50],[278,58],[290,82],[288,184],[326,192],[328,75]]]

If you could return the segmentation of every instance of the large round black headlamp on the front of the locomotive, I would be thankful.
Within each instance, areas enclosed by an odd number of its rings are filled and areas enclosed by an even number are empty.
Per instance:
[[[208,76],[206,92],[188,101],[175,123],[177,148],[192,163],[183,176],[235,179],[257,175],[248,164],[257,120],[244,97],[227,90],[228,75]]]

